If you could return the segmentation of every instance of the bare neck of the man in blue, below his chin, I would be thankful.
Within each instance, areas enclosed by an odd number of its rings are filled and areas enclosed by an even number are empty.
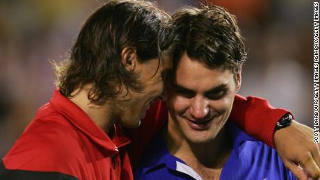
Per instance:
[[[211,142],[195,144],[184,138],[183,133],[177,128],[177,124],[169,117],[168,129],[163,134],[166,136],[169,152],[181,158],[196,172],[206,168],[221,172],[232,149],[232,143],[227,136],[225,127]]]

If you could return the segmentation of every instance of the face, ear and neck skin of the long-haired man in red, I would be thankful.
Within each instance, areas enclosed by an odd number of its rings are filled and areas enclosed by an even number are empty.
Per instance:
[[[170,68],[169,63],[158,58],[140,63],[134,49],[125,48],[122,50],[122,63],[124,67],[138,74],[138,81],[141,82],[143,90],[121,89],[120,95],[115,99],[105,101],[103,104],[93,104],[88,99],[88,92],[92,84],[75,90],[70,98],[104,131],[109,132],[115,122],[124,128],[138,127],[141,119],[150,106],[159,99],[163,92],[163,73]]]

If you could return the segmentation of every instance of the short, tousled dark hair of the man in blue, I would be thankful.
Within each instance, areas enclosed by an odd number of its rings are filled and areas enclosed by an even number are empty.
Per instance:
[[[234,74],[247,58],[236,17],[219,6],[184,7],[161,33],[159,51],[173,59],[173,72],[184,53],[210,69],[230,69]]]

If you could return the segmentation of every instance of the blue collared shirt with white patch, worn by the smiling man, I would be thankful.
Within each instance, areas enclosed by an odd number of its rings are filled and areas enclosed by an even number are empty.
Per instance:
[[[223,165],[220,179],[296,179],[283,165],[275,149],[248,136],[231,122],[226,125],[233,147]],[[200,180],[201,177],[184,161],[170,154],[158,133],[145,149],[141,163],[134,170],[134,179]]]

